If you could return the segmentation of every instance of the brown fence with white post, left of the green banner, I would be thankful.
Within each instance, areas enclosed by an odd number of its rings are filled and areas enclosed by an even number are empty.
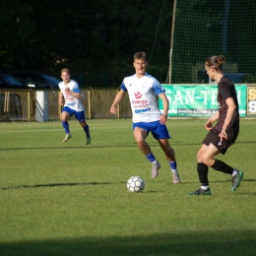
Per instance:
[[[82,102],[88,119],[129,118],[132,116],[129,97],[120,103],[118,114],[109,112],[117,94],[116,89],[82,89]],[[50,121],[58,120],[61,105],[58,103],[59,90],[1,90],[0,121]]]

